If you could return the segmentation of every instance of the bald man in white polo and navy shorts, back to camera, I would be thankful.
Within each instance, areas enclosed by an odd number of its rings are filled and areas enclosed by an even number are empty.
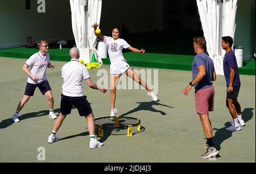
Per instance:
[[[59,140],[56,137],[56,132],[59,130],[61,124],[68,114],[71,113],[72,106],[75,106],[79,110],[79,115],[84,116],[87,119],[87,127],[90,135],[90,146],[89,148],[96,148],[104,146],[95,138],[95,123],[92,108],[89,102],[86,100],[84,90],[82,89],[82,81],[92,89],[98,89],[103,93],[106,93],[105,88],[98,88],[94,82],[90,80],[88,70],[79,62],[79,49],[71,48],[69,52],[71,61],[65,64],[62,69],[62,94],[60,102],[60,115],[56,119],[52,134],[48,137],[48,143],[53,143]]]

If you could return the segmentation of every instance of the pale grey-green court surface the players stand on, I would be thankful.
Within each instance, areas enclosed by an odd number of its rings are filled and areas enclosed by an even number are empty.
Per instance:
[[[63,56],[66,55],[67,53],[63,53]],[[225,131],[232,119],[225,106],[224,76],[217,76],[217,81],[214,82],[214,111],[210,112],[210,119],[214,141],[220,154],[214,160],[207,160],[200,158],[205,152],[205,139],[200,119],[195,113],[194,90],[187,97],[181,94],[181,90],[191,81],[190,71],[158,69],[158,80],[152,80],[154,84],[158,82],[158,102],[152,101],[146,90],[117,90],[118,115],[141,119],[144,131],[131,137],[105,132],[103,138],[97,137],[105,146],[91,150],[86,120],[79,117],[76,109],[72,109],[72,113],[57,132],[60,140],[47,143],[54,121],[48,118],[47,99],[39,90],[36,90],[34,97],[20,112],[20,122],[11,121],[11,115],[24,93],[27,76],[22,71],[22,66],[25,61],[0,57],[3,65],[0,70],[0,162],[44,162],[38,160],[38,149],[44,148],[45,162],[255,163],[255,76],[240,76],[242,86],[238,101],[246,126],[237,132]],[[47,69],[47,76],[55,100],[55,113],[58,114],[62,85],[61,67],[65,61],[52,63],[55,64],[55,69]],[[108,65],[89,70],[94,82],[101,78],[97,76],[97,72],[104,69],[109,72]],[[83,86],[95,118],[108,116],[109,90],[102,94],[88,88],[85,83]]]

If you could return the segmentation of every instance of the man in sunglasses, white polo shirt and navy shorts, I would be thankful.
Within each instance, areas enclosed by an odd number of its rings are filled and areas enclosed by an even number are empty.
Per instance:
[[[22,110],[23,106],[30,99],[31,96],[34,96],[34,92],[36,87],[39,88],[40,92],[46,95],[48,99],[49,106],[49,118],[57,118],[53,113],[53,96],[52,89],[49,86],[49,82],[47,81],[46,76],[46,68],[54,68],[54,65],[51,64],[49,60],[48,52],[48,42],[46,40],[40,40],[38,42],[39,52],[34,53],[34,55],[30,56],[30,58],[23,65],[23,71],[28,75],[27,85],[24,92],[24,96],[22,100],[19,102],[15,113],[11,119],[14,122],[19,122],[18,115],[20,110]],[[30,71],[28,70],[30,67]]]

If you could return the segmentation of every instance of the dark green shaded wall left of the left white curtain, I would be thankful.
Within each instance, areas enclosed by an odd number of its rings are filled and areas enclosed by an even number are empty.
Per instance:
[[[27,36],[50,42],[73,39],[69,1],[45,1],[46,13],[38,13],[38,0],[31,0],[30,10],[25,0],[0,2],[0,49],[24,45]]]

